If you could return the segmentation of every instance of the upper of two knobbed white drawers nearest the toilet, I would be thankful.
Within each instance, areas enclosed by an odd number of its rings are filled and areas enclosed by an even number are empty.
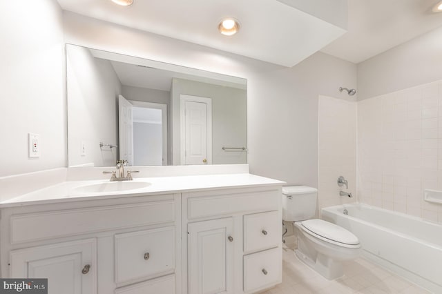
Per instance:
[[[281,226],[278,211],[244,215],[244,253],[277,247],[282,236]]]

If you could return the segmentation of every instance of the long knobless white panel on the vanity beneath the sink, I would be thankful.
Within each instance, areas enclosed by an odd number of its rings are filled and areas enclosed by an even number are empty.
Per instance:
[[[11,243],[32,242],[173,221],[175,221],[173,200],[12,215],[10,217]]]

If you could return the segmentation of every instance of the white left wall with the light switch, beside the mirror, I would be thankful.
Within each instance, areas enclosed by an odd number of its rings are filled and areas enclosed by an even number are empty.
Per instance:
[[[0,176],[66,166],[61,8],[55,0],[2,1]],[[40,135],[28,158],[28,133]]]

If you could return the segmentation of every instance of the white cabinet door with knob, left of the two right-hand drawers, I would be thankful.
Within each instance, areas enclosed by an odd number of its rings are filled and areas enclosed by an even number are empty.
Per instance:
[[[188,224],[189,294],[233,293],[233,219]]]

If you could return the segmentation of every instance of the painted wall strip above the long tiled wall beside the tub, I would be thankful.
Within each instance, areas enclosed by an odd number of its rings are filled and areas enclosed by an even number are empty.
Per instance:
[[[358,64],[358,99],[442,79],[442,27]]]

